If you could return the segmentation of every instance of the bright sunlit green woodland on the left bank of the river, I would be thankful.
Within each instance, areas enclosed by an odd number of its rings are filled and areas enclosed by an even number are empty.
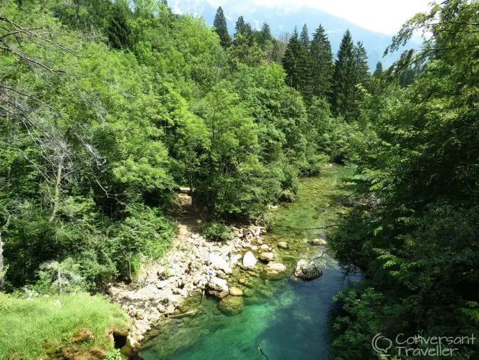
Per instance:
[[[323,31],[313,98],[307,28],[281,59],[268,24],[256,31],[240,17],[231,41],[221,8],[214,31],[153,0],[10,0],[0,21],[0,281],[10,290],[131,281],[169,246],[163,212],[179,186],[209,220],[260,221],[296,197],[299,176],[344,158],[354,126],[324,99]]]

